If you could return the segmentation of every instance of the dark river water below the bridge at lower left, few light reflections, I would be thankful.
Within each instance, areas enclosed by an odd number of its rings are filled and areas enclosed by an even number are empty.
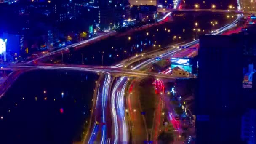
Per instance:
[[[0,99],[0,144],[71,144],[83,137],[98,75],[30,71]]]

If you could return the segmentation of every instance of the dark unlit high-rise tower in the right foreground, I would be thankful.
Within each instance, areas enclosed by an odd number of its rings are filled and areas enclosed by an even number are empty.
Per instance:
[[[196,143],[237,144],[243,113],[243,44],[239,37],[204,35],[199,45]]]

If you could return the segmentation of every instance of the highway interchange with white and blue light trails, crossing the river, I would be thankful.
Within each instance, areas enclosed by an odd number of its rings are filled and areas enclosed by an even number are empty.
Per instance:
[[[242,15],[238,14],[237,19],[230,24],[227,24],[220,29],[216,29],[211,34],[219,35],[228,29],[236,26],[236,23],[242,18]],[[73,47],[83,45],[89,41],[101,39],[109,35],[113,35],[115,32],[110,32],[106,35],[95,37],[91,40],[83,41],[78,44],[73,44]],[[1,96],[4,95],[5,91],[11,86],[11,84],[16,80],[16,78],[22,73],[28,70],[34,69],[61,69],[61,70],[76,70],[85,72],[95,72],[103,74],[101,80],[99,81],[96,93],[93,97],[93,107],[91,111],[91,121],[90,128],[84,139],[84,143],[92,144],[93,142],[101,144],[118,144],[120,142],[129,142],[129,127],[128,119],[125,116],[125,88],[128,84],[129,77],[149,77],[154,76],[159,79],[175,80],[179,77],[172,77],[171,75],[156,74],[149,72],[141,72],[139,69],[152,64],[156,57],[170,57],[173,53],[178,53],[181,51],[180,46],[190,46],[198,43],[199,40],[194,40],[189,43],[179,43],[176,45],[170,45],[163,48],[163,51],[154,51],[149,53],[143,53],[138,56],[126,59],[120,64],[115,66],[85,66],[85,65],[67,65],[67,64],[38,64],[32,65],[33,61],[28,61],[25,64],[16,64],[6,66],[3,69],[16,69],[7,79],[7,84],[4,89],[0,91]],[[61,51],[67,50],[69,47],[62,48],[58,51],[53,51],[51,53],[45,54],[37,60],[40,60],[46,56],[51,56]],[[142,56],[149,56],[147,59],[139,64],[133,65],[133,67],[125,68],[136,61],[138,61]],[[132,120],[131,120],[132,121]],[[135,129],[136,131],[136,129]],[[100,134],[100,138],[97,136]],[[147,139],[150,141],[150,139]]]

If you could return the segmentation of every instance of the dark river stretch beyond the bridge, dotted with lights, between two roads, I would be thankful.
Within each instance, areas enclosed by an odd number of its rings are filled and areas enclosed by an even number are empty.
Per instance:
[[[234,20],[229,14],[173,13],[170,21],[125,35],[107,37],[77,51],[63,54],[65,64],[112,65],[123,59],[167,45],[193,40],[199,35]],[[214,23],[214,26],[211,24]],[[195,25],[197,23],[197,26]],[[216,24],[215,24],[216,23]],[[174,38],[175,37],[175,38]],[[46,63],[62,63],[62,56],[48,57]]]

